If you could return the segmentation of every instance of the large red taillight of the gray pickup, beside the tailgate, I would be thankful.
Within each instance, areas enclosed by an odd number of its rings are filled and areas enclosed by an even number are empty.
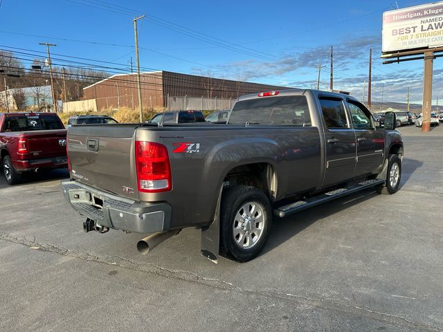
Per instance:
[[[139,192],[167,192],[172,188],[168,149],[154,142],[136,140]]]

